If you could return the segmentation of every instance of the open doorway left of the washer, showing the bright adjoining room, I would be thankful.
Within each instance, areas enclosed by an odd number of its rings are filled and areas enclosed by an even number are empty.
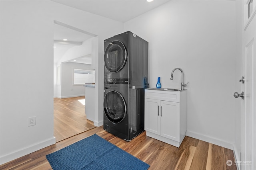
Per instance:
[[[81,76],[77,77],[74,70],[95,72],[92,41],[97,35],[60,21],[54,20],[53,24],[54,137],[59,142],[96,127],[93,121],[86,119],[85,88],[80,83]],[[74,80],[78,79],[76,83]]]

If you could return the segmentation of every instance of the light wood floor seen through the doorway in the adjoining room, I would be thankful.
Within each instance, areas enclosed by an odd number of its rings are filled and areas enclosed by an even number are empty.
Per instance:
[[[54,98],[54,137],[62,141],[96,126],[86,119],[84,96]]]

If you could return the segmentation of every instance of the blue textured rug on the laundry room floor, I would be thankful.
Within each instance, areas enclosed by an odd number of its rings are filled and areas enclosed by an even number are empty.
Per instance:
[[[46,155],[54,170],[147,170],[149,165],[94,134]]]

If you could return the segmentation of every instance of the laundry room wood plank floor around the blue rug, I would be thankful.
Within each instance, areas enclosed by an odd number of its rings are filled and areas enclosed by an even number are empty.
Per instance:
[[[132,141],[127,142],[106,132],[103,127],[96,127],[3,164],[0,169],[52,170],[46,159],[47,154],[60,150],[94,133],[149,164],[149,170],[236,170],[234,164],[232,166],[226,165],[227,160],[234,162],[234,154],[230,149],[187,136],[180,148],[176,148],[147,137],[145,131]]]

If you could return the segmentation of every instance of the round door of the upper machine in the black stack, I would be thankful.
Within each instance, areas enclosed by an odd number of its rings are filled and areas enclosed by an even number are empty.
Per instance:
[[[121,41],[112,41],[104,53],[104,64],[108,71],[118,72],[125,66],[127,51]]]

